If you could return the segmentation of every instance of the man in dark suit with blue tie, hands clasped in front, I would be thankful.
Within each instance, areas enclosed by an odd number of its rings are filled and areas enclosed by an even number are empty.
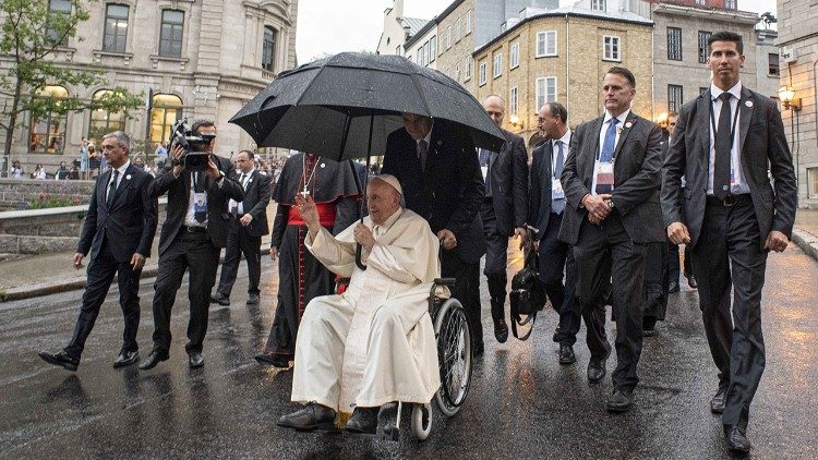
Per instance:
[[[570,140],[562,182],[567,206],[560,239],[574,245],[577,295],[588,325],[588,380],[605,375],[611,346],[605,337],[603,286],[612,279],[616,317],[611,412],[633,405],[639,378],[645,304],[645,251],[664,242],[659,205],[662,131],[630,111],[634,74],[612,68],[602,82],[605,113],[580,124]]]

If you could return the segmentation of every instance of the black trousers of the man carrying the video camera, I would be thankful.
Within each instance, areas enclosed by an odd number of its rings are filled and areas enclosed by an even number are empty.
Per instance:
[[[190,320],[184,349],[188,353],[202,352],[220,251],[210,243],[207,233],[181,229],[171,246],[159,256],[154,283],[154,351],[157,353],[166,354],[170,350],[170,312],[185,270],[190,273]]]

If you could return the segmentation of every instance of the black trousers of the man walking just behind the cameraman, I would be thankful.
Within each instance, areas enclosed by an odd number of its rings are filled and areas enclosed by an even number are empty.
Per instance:
[[[233,290],[236,276],[239,273],[241,255],[248,262],[248,293],[258,294],[258,281],[262,276],[262,238],[252,237],[248,229],[233,219],[230,232],[227,234],[227,246],[225,247],[225,262],[221,264],[221,276],[216,292],[229,298]]]

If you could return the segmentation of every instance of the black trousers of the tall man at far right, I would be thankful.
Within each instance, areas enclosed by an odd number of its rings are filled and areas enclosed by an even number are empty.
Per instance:
[[[766,362],[761,290],[767,252],[760,247],[759,232],[749,201],[732,207],[708,205],[691,250],[694,273],[707,274],[696,278],[699,305],[719,386],[727,389],[722,422],[744,428]]]

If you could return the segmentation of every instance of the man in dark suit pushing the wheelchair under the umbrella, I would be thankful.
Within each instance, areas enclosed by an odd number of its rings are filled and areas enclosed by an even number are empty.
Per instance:
[[[472,351],[482,350],[480,257],[485,254],[480,203],[485,195],[474,144],[443,119],[404,113],[404,128],[386,141],[381,173],[395,175],[406,207],[429,221],[441,240],[441,273],[457,283],[452,296],[462,303]]]

